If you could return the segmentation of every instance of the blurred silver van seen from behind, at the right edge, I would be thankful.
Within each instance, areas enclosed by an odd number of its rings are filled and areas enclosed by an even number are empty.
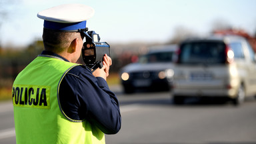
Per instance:
[[[219,35],[179,45],[173,103],[186,97],[228,97],[233,104],[256,94],[255,53],[243,37]]]

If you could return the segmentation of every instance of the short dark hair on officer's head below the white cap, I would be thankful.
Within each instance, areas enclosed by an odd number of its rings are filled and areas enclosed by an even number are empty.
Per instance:
[[[67,49],[75,38],[77,38],[77,32],[43,29],[43,45],[45,50],[53,51],[54,53],[60,53]]]

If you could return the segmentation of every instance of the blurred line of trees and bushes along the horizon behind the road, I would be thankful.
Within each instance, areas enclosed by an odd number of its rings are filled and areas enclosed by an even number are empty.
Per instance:
[[[221,31],[229,29],[229,27],[224,28],[217,29]],[[187,37],[198,37],[198,35],[185,27],[177,27],[174,30],[174,36],[166,43],[109,43],[111,47],[111,59],[113,61],[110,73],[118,73],[121,67],[136,62],[138,57],[147,53],[151,47],[169,44],[176,45],[187,39]],[[255,38],[253,38],[253,42],[256,44]],[[39,40],[34,41],[22,49],[3,48],[0,45],[0,89],[3,87],[11,88],[13,80],[17,77],[18,73],[33,61],[41,51],[43,51],[43,41]],[[84,64],[83,59],[80,57],[77,63]]]

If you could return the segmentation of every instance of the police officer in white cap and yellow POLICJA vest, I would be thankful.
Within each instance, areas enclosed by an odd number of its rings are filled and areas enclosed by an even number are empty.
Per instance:
[[[93,73],[76,63],[84,39],[79,31],[93,14],[79,4],[37,14],[44,19],[45,51],[13,83],[17,143],[105,143],[105,134],[121,128],[119,102],[106,82],[111,58],[105,55]]]

